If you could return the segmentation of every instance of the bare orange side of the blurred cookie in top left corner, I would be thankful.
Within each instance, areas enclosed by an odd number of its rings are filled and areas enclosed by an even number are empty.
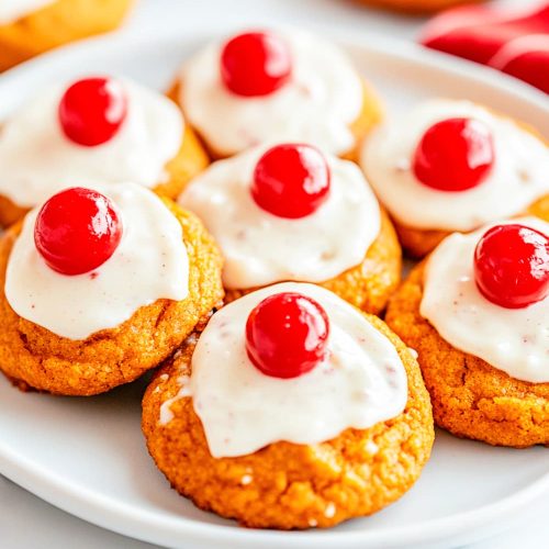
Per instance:
[[[35,55],[116,29],[133,0],[56,0],[0,25],[0,71]]]

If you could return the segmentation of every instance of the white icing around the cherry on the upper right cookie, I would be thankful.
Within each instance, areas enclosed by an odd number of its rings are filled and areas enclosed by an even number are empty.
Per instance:
[[[412,158],[429,126],[456,116],[479,120],[491,130],[495,163],[478,187],[439,191],[416,179]],[[516,215],[549,192],[547,146],[512,120],[469,101],[430,100],[374,130],[362,149],[361,166],[391,214],[416,228],[471,231]]]

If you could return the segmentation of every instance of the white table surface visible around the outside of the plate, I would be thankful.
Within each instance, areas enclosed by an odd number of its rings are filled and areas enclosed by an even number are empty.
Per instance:
[[[523,7],[539,0],[497,0]],[[206,9],[210,8],[211,9]],[[203,13],[215,13],[216,23],[246,25],[274,19],[292,23],[329,23],[369,35],[413,40],[423,19],[404,18],[359,8],[349,0],[141,0],[122,32],[147,35],[166,26],[192,25]],[[1,77],[0,77],[1,78]],[[451,497],[451,494],[448,494]],[[468,549],[534,549],[549,540],[549,494],[502,535]],[[145,549],[154,546],[112,534],[75,518],[38,500],[0,475],[0,547],[2,549]],[[336,549],[336,548],[334,548]]]

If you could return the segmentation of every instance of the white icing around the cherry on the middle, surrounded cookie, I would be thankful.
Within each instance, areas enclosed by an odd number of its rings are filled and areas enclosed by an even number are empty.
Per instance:
[[[379,204],[360,169],[327,156],[328,199],[311,215],[289,220],[262,210],[250,194],[254,168],[265,150],[213,164],[179,199],[220,245],[225,287],[322,282],[360,264],[380,231]]]

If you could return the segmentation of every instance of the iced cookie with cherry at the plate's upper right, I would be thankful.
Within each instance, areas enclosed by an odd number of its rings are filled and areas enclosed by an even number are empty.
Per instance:
[[[367,139],[360,163],[413,257],[549,197],[542,138],[469,101],[426,101],[388,122]]]

